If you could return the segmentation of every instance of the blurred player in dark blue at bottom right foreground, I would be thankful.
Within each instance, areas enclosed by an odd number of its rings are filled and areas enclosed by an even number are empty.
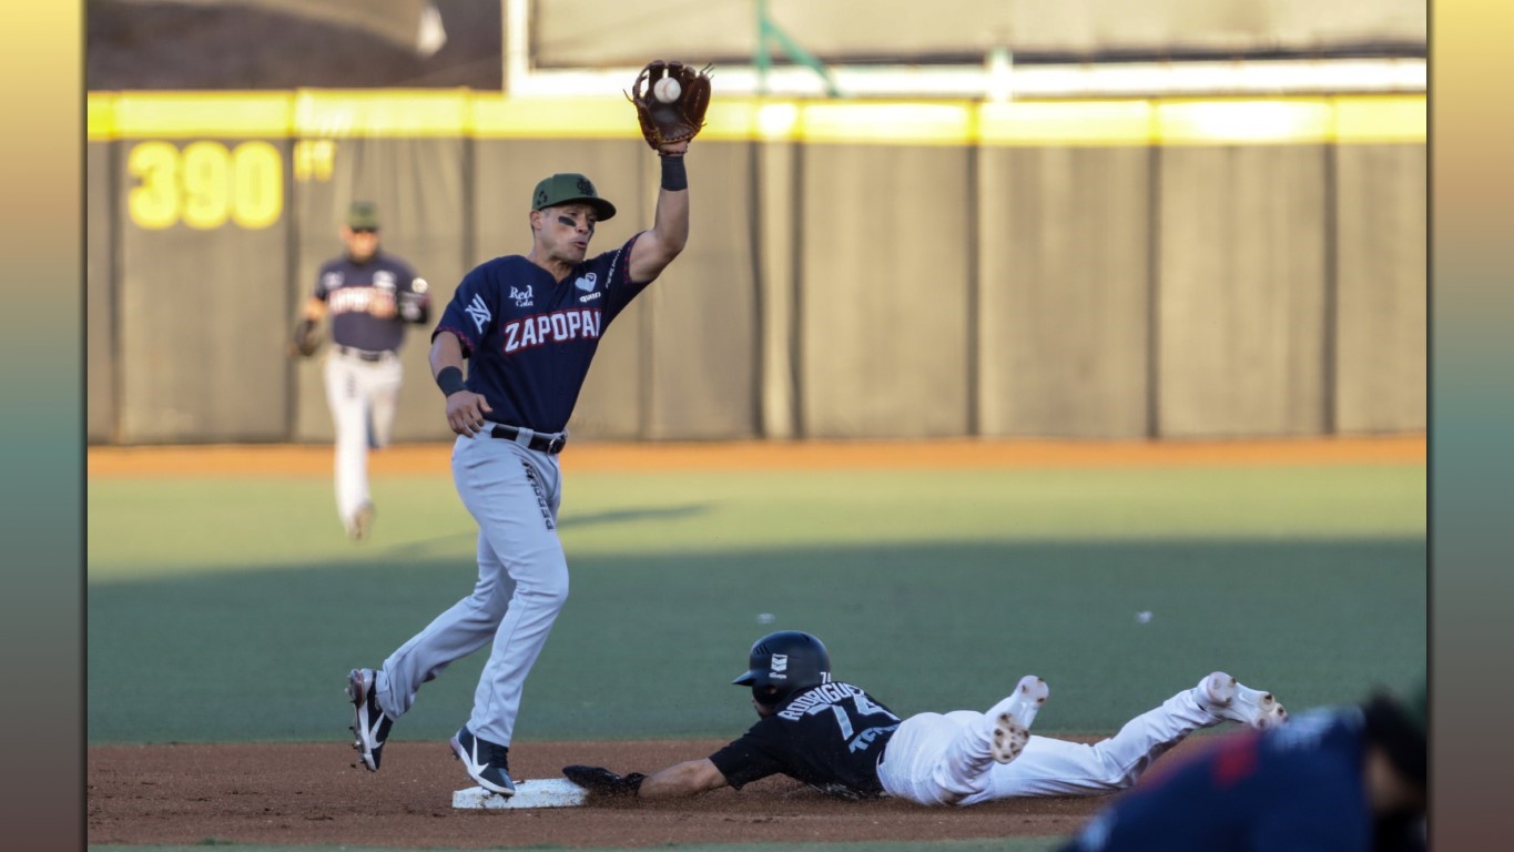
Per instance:
[[[1226,737],[1120,796],[1064,852],[1425,849],[1425,684]]]

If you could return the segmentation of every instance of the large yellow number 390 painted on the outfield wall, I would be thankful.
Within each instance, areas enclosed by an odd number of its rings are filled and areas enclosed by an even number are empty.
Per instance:
[[[183,221],[212,230],[227,219],[248,230],[265,229],[283,212],[283,163],[268,142],[142,142],[126,157],[141,180],[127,195],[138,227],[162,230]]]

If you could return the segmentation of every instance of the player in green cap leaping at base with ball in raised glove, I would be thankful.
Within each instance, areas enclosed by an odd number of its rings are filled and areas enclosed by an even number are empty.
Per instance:
[[[678,97],[654,104],[653,86],[663,79],[680,83]],[[451,746],[484,790],[515,793],[509,751],[521,690],[568,598],[557,454],[606,327],[689,239],[683,156],[709,97],[709,77],[680,62],[653,62],[636,80],[642,133],[662,160],[651,230],[589,257],[595,227],[615,215],[615,204],[581,174],[545,177],[530,198],[530,251],[468,272],[431,333],[431,371],[459,436],[453,480],[478,522],[478,580],[380,669],[350,673],[354,748],[368,769],[378,769],[391,725],[410,710],[421,684],[489,645],[472,714]]]

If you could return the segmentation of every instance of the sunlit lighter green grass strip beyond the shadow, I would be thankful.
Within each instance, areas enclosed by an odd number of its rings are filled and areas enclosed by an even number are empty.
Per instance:
[[[438,558],[471,561],[477,528],[445,475],[374,483],[375,539],[341,534],[309,480],[88,483],[89,583]],[[566,477],[569,558],[881,542],[1423,536],[1425,469],[580,474]]]

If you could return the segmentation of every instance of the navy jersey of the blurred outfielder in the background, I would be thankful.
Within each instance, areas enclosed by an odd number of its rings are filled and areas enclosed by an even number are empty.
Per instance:
[[[315,280],[315,298],[332,315],[335,344],[371,353],[398,351],[404,324],[430,319],[425,280],[389,254],[374,254],[362,263],[347,256],[329,260]],[[394,304],[394,316],[374,316],[377,304]]]

